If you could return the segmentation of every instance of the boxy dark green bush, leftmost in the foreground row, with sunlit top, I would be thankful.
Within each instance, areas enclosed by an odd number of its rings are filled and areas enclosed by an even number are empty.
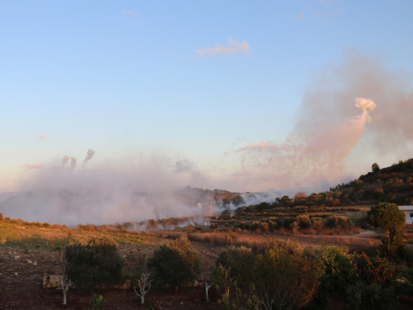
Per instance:
[[[111,287],[122,278],[123,259],[118,252],[118,243],[112,238],[90,237],[70,241],[65,255],[71,264],[68,278],[77,288]]]

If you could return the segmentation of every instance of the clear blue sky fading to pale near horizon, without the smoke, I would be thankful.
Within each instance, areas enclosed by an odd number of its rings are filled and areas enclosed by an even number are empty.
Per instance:
[[[0,191],[34,177],[25,164],[50,169],[89,148],[96,167],[155,156],[172,170],[187,160],[207,179],[189,185],[282,186],[260,183],[268,161],[254,157],[248,169],[240,149],[285,143],[311,83],[345,51],[411,82],[412,12],[410,0],[0,1]],[[413,105],[411,86],[403,91]],[[351,95],[352,109],[363,95]],[[352,148],[331,182],[411,154]],[[251,182],[232,184],[240,174]]]

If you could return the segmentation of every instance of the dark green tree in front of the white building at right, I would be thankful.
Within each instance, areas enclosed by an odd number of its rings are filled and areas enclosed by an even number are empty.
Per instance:
[[[406,224],[406,214],[396,204],[379,203],[367,212],[369,224],[386,230],[381,242],[386,254],[396,257],[399,248],[404,245],[403,227]]]

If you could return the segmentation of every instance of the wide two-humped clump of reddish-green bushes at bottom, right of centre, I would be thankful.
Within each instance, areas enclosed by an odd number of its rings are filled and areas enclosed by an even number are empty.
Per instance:
[[[277,241],[255,256],[248,248],[228,248],[217,258],[213,276],[223,309],[295,309],[317,291],[323,266],[298,242]]]

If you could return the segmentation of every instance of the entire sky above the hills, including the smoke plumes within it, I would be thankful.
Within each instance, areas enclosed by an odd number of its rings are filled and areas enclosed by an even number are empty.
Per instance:
[[[100,179],[326,190],[413,157],[412,12],[0,1],[0,192]]]

